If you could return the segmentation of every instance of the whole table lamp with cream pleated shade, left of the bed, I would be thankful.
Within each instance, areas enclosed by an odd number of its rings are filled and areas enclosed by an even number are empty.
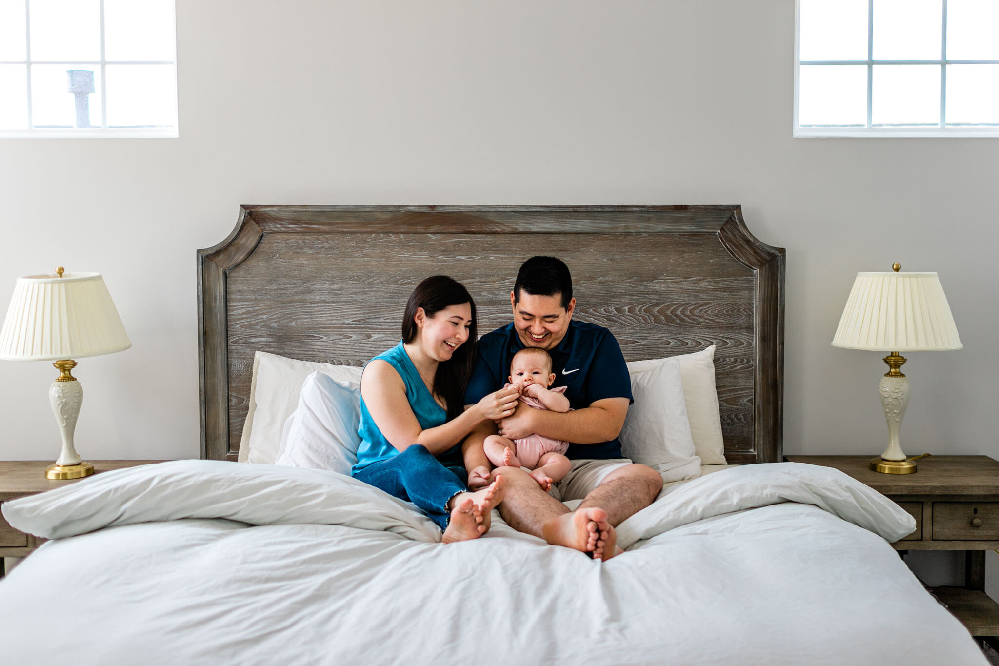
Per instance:
[[[94,473],[73,445],[83,388],[70,372],[71,358],[123,351],[132,346],[99,273],[64,273],[19,278],[0,330],[0,359],[55,360],[60,375],[49,402],[62,432],[62,453],[45,468],[47,478]]]

